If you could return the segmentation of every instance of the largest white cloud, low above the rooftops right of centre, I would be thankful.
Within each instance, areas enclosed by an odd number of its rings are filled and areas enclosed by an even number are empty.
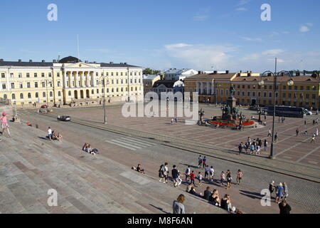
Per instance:
[[[206,69],[210,66],[226,68],[232,57],[230,53],[237,50],[235,46],[228,45],[203,45],[176,43],[164,46],[166,56],[177,63],[187,64],[190,68]]]

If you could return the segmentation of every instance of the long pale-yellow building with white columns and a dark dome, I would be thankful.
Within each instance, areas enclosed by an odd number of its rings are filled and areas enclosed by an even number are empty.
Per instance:
[[[18,106],[90,105],[144,93],[141,67],[72,56],[50,63],[0,59],[0,76],[0,102]]]

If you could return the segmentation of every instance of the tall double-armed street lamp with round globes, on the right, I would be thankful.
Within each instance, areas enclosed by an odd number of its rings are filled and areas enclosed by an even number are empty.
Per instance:
[[[287,85],[288,86],[293,86],[294,85],[294,81],[292,80],[292,76],[291,73],[289,71],[280,71],[279,73],[272,73],[271,71],[265,71],[264,73],[261,74],[261,81],[259,81],[258,85],[259,86],[264,86],[265,85],[265,81],[263,81],[262,76],[268,73],[269,76],[273,76],[274,80],[274,86],[273,86],[273,119],[272,119],[272,142],[271,142],[271,150],[270,150],[270,159],[274,159],[273,157],[273,149],[274,149],[274,119],[275,119],[275,114],[276,114],[276,92],[277,92],[277,77],[288,73],[290,76],[290,79],[287,81]]]

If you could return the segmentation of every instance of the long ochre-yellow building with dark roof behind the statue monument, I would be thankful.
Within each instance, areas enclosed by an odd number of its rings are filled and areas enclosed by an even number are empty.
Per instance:
[[[287,81],[292,79],[293,86]],[[264,85],[259,86],[263,80]],[[185,79],[186,92],[198,92],[201,103],[226,103],[230,86],[235,87],[235,98],[240,105],[273,105],[274,77],[260,73],[201,73]],[[278,76],[277,105],[319,109],[320,80],[312,76]]]

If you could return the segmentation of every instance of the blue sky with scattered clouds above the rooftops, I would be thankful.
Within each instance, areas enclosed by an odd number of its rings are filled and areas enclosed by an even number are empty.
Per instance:
[[[48,21],[48,4],[58,21]],[[272,21],[262,21],[270,4]],[[156,69],[320,70],[318,0],[1,1],[0,58],[127,62]]]

